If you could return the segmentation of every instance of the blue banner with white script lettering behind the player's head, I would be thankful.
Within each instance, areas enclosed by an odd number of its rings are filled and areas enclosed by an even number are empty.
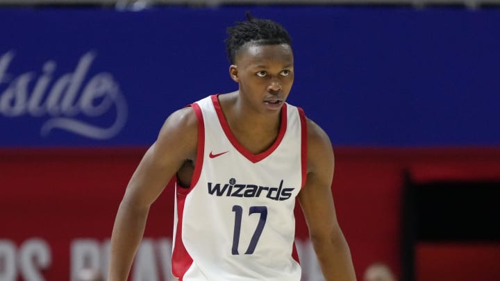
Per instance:
[[[144,146],[174,110],[238,88],[226,27],[292,36],[299,105],[347,146],[500,144],[500,9],[0,9],[0,147]]]

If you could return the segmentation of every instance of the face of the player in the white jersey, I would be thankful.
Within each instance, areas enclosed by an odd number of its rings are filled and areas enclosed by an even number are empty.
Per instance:
[[[294,80],[293,52],[288,44],[243,46],[231,65],[240,96],[258,112],[279,112]]]

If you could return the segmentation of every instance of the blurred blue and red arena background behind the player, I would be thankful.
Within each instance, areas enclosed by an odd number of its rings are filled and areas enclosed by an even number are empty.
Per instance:
[[[0,0],[0,281],[106,273],[126,183],[172,111],[228,92],[244,11],[292,35],[289,102],[331,138],[358,280],[500,280],[500,1]],[[172,188],[131,280],[172,280]],[[303,281],[322,280],[301,212]]]

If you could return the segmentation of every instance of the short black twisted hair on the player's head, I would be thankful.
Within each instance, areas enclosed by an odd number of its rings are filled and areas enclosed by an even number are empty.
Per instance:
[[[247,22],[236,22],[235,26],[227,28],[226,52],[229,62],[234,63],[236,53],[244,44],[254,42],[257,45],[288,44],[292,39],[288,31],[269,19],[258,19],[246,12]]]

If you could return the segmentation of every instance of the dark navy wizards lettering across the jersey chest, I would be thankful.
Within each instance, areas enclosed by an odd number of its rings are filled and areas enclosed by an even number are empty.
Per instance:
[[[227,197],[260,197],[265,196],[275,201],[287,200],[292,196],[294,187],[283,187],[281,180],[279,187],[264,187],[261,185],[237,185],[235,178],[231,178],[228,183],[208,182],[208,193],[214,196]]]

